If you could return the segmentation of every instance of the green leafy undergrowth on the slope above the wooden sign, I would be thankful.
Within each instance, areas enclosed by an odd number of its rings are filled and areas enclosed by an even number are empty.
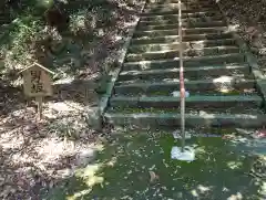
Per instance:
[[[44,18],[51,0],[21,2],[19,9],[10,8],[8,14],[0,12],[3,19],[10,19],[0,22],[0,74],[18,72],[33,62],[71,75],[76,75],[82,67],[88,70],[88,66],[103,71],[102,66],[110,64],[111,51],[117,44],[114,35],[124,34],[124,23],[133,15],[130,1],[126,3],[131,6],[124,8],[122,1],[68,1],[63,10],[70,22],[65,30],[57,30],[49,28]],[[45,43],[49,36],[51,44]],[[65,51],[53,54],[48,45],[63,46]]]

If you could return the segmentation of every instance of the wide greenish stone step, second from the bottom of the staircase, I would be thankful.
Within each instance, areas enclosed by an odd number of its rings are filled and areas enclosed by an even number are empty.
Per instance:
[[[113,96],[110,99],[112,107],[137,108],[178,108],[180,97],[174,96]],[[258,95],[208,96],[192,95],[185,98],[187,109],[215,109],[223,112],[228,107],[260,107],[263,98]],[[237,110],[237,109],[236,109]],[[241,108],[238,110],[242,110]]]

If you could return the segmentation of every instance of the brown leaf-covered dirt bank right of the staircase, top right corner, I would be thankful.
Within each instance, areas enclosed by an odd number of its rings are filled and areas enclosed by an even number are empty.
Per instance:
[[[266,1],[219,0],[219,3],[266,72]]]

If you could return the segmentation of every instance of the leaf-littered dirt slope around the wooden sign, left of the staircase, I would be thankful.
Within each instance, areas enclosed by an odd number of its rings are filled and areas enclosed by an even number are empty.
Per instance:
[[[108,127],[93,130],[88,113],[99,103],[99,77],[115,63],[140,2],[104,1],[89,11],[79,8],[63,36],[42,30],[42,35],[45,31],[52,34],[53,50],[63,50],[44,55],[44,64],[58,76],[53,96],[44,101],[41,122],[34,101],[24,97],[16,75],[23,65],[10,64],[7,54],[1,54],[6,67],[13,67],[8,73],[0,71],[0,199],[39,200],[40,193],[84,165],[99,139],[110,134]]]

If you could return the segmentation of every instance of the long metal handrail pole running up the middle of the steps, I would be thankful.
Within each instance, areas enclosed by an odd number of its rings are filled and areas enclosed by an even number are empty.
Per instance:
[[[180,43],[180,97],[181,97],[181,135],[182,151],[185,147],[185,84],[183,67],[183,42],[182,42],[182,4],[178,0],[178,43]]]

